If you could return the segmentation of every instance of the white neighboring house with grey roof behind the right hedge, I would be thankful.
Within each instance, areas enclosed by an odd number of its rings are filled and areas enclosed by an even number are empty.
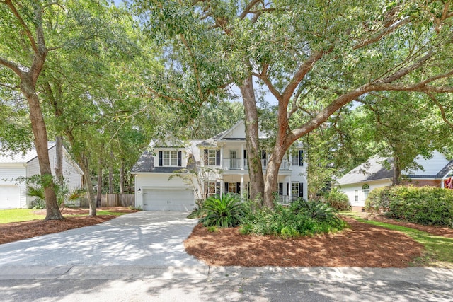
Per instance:
[[[384,166],[386,158],[374,156],[358,165],[338,180],[340,190],[348,196],[352,210],[361,211],[369,192],[377,187],[391,185],[393,172]],[[404,185],[444,187],[444,181],[452,175],[453,161],[435,151],[432,158],[418,156],[415,162],[421,169],[403,170]]]

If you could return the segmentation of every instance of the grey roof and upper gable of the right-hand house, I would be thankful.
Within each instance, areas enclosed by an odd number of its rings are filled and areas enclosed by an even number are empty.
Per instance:
[[[436,160],[437,164],[433,164]],[[343,175],[338,180],[339,185],[347,185],[360,182],[369,182],[374,180],[384,180],[393,177],[393,171],[384,166],[385,162],[391,163],[391,158],[373,156],[368,161],[358,165],[350,172]],[[415,171],[404,170],[403,174],[406,178],[417,179],[442,179],[447,173],[453,170],[453,161],[448,161],[442,153],[435,151],[432,158],[424,159],[418,156],[415,161],[423,167]],[[437,168],[439,167],[439,168]]]

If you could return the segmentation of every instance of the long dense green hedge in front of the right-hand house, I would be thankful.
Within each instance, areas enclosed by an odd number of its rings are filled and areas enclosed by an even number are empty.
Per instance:
[[[393,219],[453,227],[453,190],[438,187],[380,187],[369,192],[365,211]]]

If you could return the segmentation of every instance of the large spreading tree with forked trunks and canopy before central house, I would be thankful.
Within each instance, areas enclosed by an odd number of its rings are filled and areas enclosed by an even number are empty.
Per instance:
[[[382,91],[453,91],[449,1],[137,0],[133,7],[167,47],[167,72],[184,80],[185,102],[239,86],[251,197],[263,196],[268,207],[289,146],[344,105]],[[264,177],[256,81],[278,104]]]

